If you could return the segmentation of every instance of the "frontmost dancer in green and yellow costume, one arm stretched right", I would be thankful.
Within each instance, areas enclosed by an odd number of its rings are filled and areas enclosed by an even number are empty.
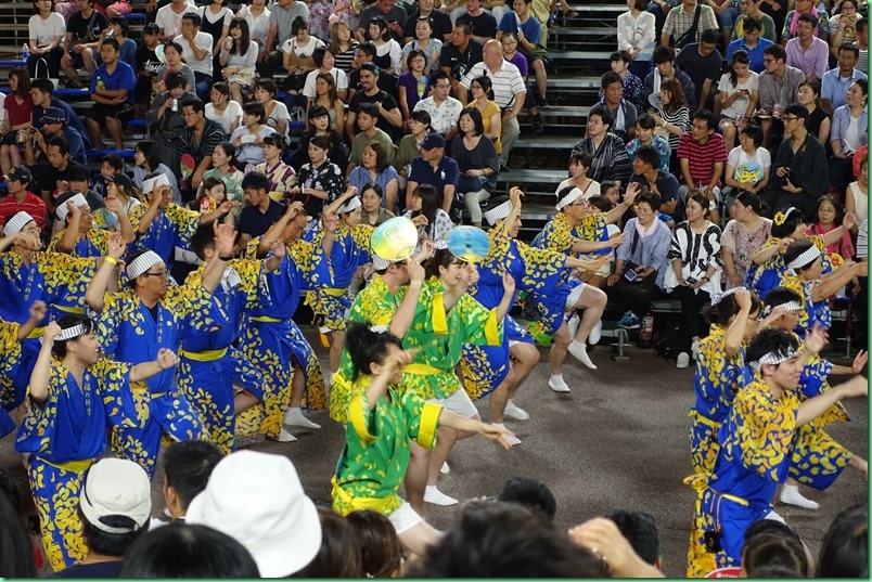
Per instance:
[[[397,494],[409,466],[409,441],[433,449],[437,430],[451,429],[478,432],[511,449],[505,440],[511,432],[459,416],[403,389],[403,370],[419,350],[403,351],[400,339],[389,332],[352,323],[346,346],[357,396],[351,399],[346,444],[332,480],[333,508],[342,515],[360,509],[386,515],[400,543],[423,556],[439,534]]]

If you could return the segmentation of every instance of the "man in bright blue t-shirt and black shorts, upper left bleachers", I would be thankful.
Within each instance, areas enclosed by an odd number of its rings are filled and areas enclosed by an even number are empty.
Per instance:
[[[133,88],[137,77],[133,68],[118,60],[118,41],[104,40],[100,46],[103,64],[97,67],[91,77],[91,101],[86,120],[95,150],[103,150],[100,138],[102,127],[106,127],[116,150],[124,150],[123,124],[133,117]]]

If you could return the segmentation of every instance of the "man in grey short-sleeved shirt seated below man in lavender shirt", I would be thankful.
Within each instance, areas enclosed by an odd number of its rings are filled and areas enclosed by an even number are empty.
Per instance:
[[[769,145],[770,135],[787,131],[782,122],[784,107],[796,101],[799,83],[806,76],[796,67],[787,65],[787,53],[780,44],[764,50],[766,70],[757,78],[760,104],[757,117],[764,130],[764,145]]]

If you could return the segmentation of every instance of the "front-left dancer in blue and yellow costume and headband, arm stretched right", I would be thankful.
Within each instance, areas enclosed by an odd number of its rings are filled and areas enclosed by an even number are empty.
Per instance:
[[[176,365],[167,349],[137,365],[100,359],[95,333],[97,323],[81,315],[65,315],[46,327],[27,415],[15,439],[15,450],[27,455],[42,543],[54,570],[88,553],[79,493],[88,468],[106,451],[106,429],[138,426],[148,415],[149,396],[137,383]]]

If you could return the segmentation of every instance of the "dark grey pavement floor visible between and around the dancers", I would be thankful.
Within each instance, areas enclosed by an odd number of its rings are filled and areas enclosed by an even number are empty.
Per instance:
[[[315,338],[312,338],[315,339]],[[604,340],[605,341],[605,340]],[[317,341],[326,367],[326,353]],[[547,385],[548,352],[515,402],[530,419],[508,421],[522,444],[503,451],[480,438],[460,442],[451,453],[451,473],[441,476],[440,489],[458,499],[495,495],[513,475],[527,475],[546,482],[557,499],[556,527],[567,529],[613,508],[640,509],[652,514],[659,526],[664,567],[669,577],[683,577],[694,495],[681,484],[690,474],[688,409],[693,403],[693,370],[676,370],[674,362],[653,350],[632,350],[629,362],[616,363],[611,348],[589,351],[597,371],[572,361],[564,377],[572,393],[556,395]],[[836,380],[837,381],[837,380]],[[865,399],[846,402],[854,422],[831,427],[830,434],[857,454],[869,455],[869,410]],[[487,401],[478,403],[487,418]],[[307,493],[318,504],[330,504],[330,478],[343,447],[342,427],[326,412],[311,419],[320,430],[292,429],[298,440],[277,443],[247,440],[242,447],[284,454],[299,471]],[[0,441],[0,464],[26,488],[21,456],[12,439]],[[159,483],[154,483],[154,515],[163,510]],[[867,481],[846,469],[826,492],[804,490],[820,502],[817,512],[777,505],[817,554],[835,515],[869,497]],[[244,500],[240,500],[244,503]],[[457,507],[457,506],[456,506]],[[447,528],[456,507],[429,505],[425,517],[437,528]]]

